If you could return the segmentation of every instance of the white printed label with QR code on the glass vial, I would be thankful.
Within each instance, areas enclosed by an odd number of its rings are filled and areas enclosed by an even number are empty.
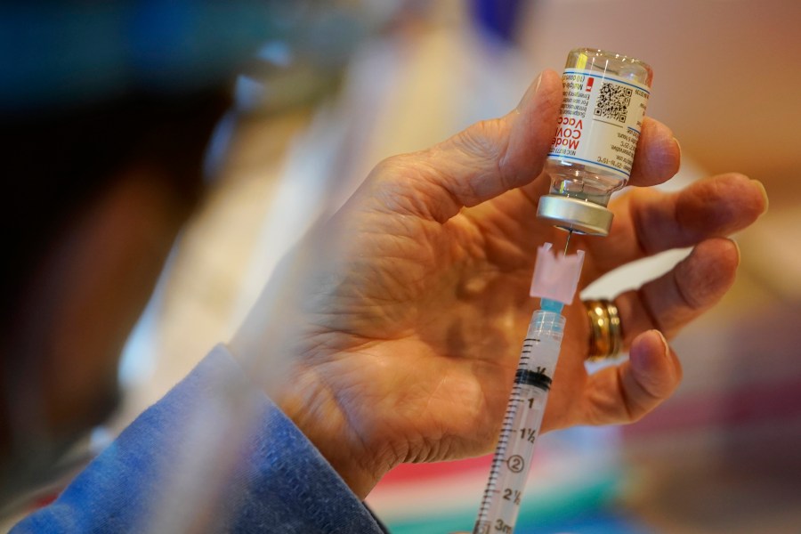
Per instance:
[[[562,110],[549,159],[602,167],[627,179],[651,92],[593,70],[562,75]]]

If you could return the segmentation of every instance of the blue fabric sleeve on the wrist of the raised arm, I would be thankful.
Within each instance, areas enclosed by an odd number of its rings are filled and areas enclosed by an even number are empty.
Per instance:
[[[381,533],[223,345],[147,409],[26,532]]]

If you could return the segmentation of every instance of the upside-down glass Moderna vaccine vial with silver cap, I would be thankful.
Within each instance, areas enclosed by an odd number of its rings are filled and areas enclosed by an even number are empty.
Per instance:
[[[611,194],[628,182],[651,93],[643,61],[593,48],[568,54],[558,128],[546,160],[549,194],[537,215],[564,230],[605,236]]]

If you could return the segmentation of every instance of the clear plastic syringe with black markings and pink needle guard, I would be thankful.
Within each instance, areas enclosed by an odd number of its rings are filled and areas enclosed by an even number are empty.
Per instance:
[[[473,534],[511,533],[520,512],[562,347],[565,324],[562,303],[572,300],[584,260],[581,251],[570,257],[554,257],[550,247],[546,243],[538,250],[531,293],[551,298],[542,298],[541,308],[531,316]]]

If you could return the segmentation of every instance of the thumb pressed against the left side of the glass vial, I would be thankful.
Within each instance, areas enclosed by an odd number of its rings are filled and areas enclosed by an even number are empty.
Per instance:
[[[542,171],[561,105],[562,80],[545,70],[506,116],[471,125],[429,150],[385,161],[404,171],[392,189],[409,188],[417,214],[444,222],[462,207],[530,183]]]

